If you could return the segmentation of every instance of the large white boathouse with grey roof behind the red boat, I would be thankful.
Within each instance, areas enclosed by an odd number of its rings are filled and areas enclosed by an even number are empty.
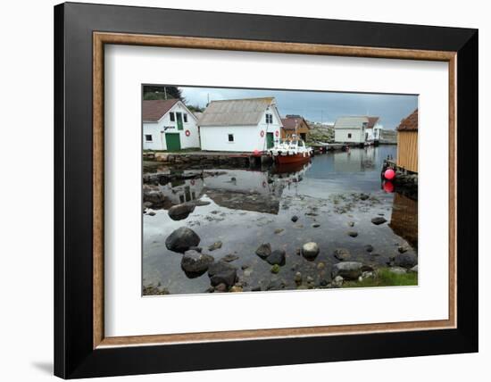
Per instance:
[[[274,97],[212,101],[198,124],[203,150],[249,153],[272,147],[282,127]]]

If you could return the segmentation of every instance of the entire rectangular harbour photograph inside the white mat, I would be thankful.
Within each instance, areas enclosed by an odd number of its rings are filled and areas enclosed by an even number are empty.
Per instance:
[[[418,285],[418,95],[141,92],[142,295]]]

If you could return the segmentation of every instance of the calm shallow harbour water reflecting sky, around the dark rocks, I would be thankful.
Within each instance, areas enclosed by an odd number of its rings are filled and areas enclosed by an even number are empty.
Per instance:
[[[193,179],[178,179],[158,186],[172,204],[201,200],[185,220],[171,220],[167,210],[144,214],[144,286],[160,286],[171,294],[203,293],[210,286],[205,273],[187,278],[180,269],[180,253],[165,247],[165,239],[179,227],[187,226],[201,237],[200,246],[219,260],[227,254],[238,259],[238,276],[244,290],[261,286],[262,290],[284,285],[296,287],[294,275],[301,271],[316,284],[330,280],[330,268],[337,260],[336,248],[350,250],[353,261],[372,266],[386,264],[397,247],[417,252],[417,202],[404,195],[386,193],[380,183],[380,169],[387,155],[395,157],[395,145],[352,149],[312,158],[300,167],[271,167],[262,170],[183,170]],[[152,171],[169,173],[159,166]],[[370,195],[366,200],[363,194]],[[297,216],[294,223],[291,218]],[[371,219],[383,216],[387,223],[376,226]],[[319,225],[314,228],[312,225]],[[352,227],[353,226],[353,227]],[[357,237],[347,235],[356,231]],[[220,249],[209,252],[209,245],[221,241]],[[320,254],[313,262],[296,254],[306,242],[316,242]],[[255,254],[261,243],[272,249],[285,249],[287,263],[278,275],[270,273],[270,264]],[[368,253],[366,245],[374,251]],[[245,270],[241,270],[246,266]]]

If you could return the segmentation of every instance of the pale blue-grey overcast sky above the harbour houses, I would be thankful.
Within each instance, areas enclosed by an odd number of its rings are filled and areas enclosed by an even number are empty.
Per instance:
[[[279,113],[300,114],[306,120],[332,122],[345,115],[379,116],[384,129],[395,129],[399,122],[418,107],[417,95],[255,90],[223,87],[179,87],[187,104],[204,107],[221,99],[276,97]]]

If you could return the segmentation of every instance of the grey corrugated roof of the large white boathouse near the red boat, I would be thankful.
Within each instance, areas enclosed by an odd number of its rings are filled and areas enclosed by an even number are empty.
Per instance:
[[[212,101],[198,121],[199,126],[257,125],[274,97]]]

